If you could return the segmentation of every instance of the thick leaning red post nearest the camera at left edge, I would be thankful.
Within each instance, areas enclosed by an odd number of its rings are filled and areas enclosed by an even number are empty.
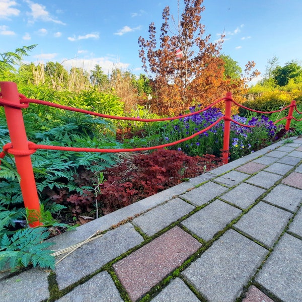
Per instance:
[[[2,98],[12,104],[20,105],[20,98],[16,83],[0,82]],[[14,108],[9,105],[3,105],[7,118],[8,129],[14,150],[24,152],[28,155],[15,155],[17,172],[21,177],[20,187],[22,191],[24,205],[30,210],[29,221],[40,215],[40,202],[37,193],[37,187],[28,148],[24,120],[21,108]],[[31,227],[41,225],[39,221],[30,223]]]

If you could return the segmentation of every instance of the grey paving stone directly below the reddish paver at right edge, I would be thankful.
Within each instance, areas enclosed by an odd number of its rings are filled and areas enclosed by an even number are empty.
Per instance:
[[[302,200],[302,190],[279,184],[263,200],[294,212]]]

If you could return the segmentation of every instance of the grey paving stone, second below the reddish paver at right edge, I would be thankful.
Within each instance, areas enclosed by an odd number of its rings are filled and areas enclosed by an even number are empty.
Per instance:
[[[291,213],[260,201],[233,228],[267,247],[272,247],[291,217]]]

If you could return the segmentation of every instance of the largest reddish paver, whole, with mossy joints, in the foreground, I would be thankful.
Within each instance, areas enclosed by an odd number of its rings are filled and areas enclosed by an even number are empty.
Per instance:
[[[113,265],[132,301],[179,267],[201,244],[178,226]]]

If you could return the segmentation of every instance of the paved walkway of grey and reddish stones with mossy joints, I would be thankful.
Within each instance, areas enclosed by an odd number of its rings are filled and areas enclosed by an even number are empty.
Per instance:
[[[52,238],[101,234],[2,276],[0,301],[302,301],[302,138],[284,142]]]

